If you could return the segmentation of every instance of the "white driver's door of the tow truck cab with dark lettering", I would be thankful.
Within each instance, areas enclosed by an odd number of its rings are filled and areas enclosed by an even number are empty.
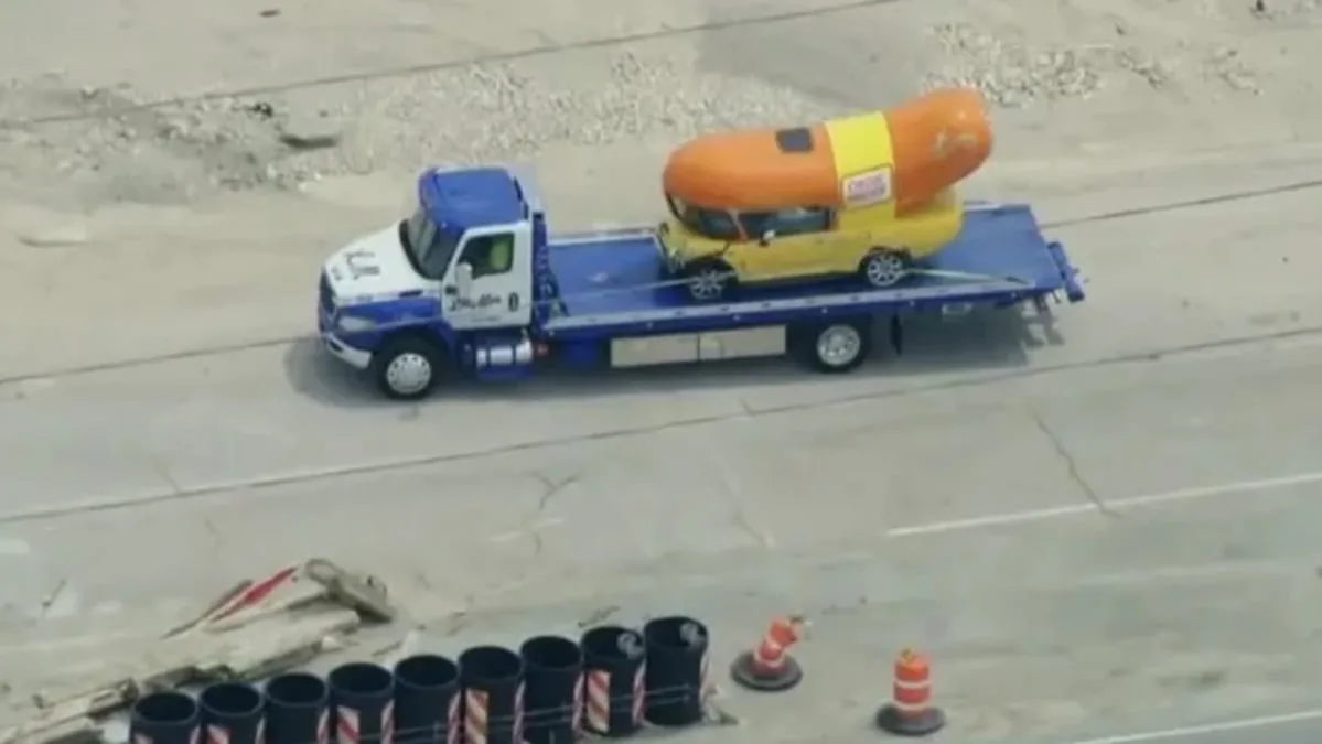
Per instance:
[[[446,321],[456,330],[526,326],[531,320],[531,267],[526,222],[471,230],[442,285]]]

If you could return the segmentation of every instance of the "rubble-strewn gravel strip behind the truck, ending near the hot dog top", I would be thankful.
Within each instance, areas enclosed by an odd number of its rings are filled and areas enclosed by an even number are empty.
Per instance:
[[[11,111],[25,98],[58,98],[86,118],[0,128],[0,169],[75,184],[90,201],[144,202],[435,163],[517,161],[550,144],[678,140],[832,111],[785,87],[697,73],[691,56],[646,50],[582,50],[104,116],[98,114],[137,104],[134,91],[79,90],[59,79],[5,90]]]

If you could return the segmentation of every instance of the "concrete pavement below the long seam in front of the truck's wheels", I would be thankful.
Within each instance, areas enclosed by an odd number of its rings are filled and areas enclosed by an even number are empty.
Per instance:
[[[1251,345],[12,523],[34,576],[7,600],[62,580],[48,614],[114,628],[330,554],[468,612],[424,641],[447,651],[617,607],[691,612],[728,658],[808,612],[808,683],[732,694],[738,736],[854,731],[903,644],[961,740],[1294,710],[1322,669],[1318,362]]]

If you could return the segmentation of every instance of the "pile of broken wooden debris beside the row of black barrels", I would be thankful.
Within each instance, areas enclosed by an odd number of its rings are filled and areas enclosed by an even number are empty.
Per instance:
[[[334,650],[365,625],[394,618],[385,585],[370,576],[323,558],[283,567],[241,581],[188,622],[161,628],[145,649],[115,655],[106,642],[82,650],[108,658],[95,671],[81,670],[77,683],[0,694],[0,744],[102,741],[107,716],[145,694],[278,674]]]

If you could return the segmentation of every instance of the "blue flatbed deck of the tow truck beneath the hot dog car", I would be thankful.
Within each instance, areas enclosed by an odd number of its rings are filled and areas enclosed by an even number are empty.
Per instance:
[[[738,288],[728,301],[695,303],[668,281],[652,230],[551,239],[559,312],[543,322],[551,337],[681,333],[857,315],[919,312],[944,305],[1006,305],[1063,292],[1083,299],[1076,271],[1048,242],[1027,205],[969,205],[964,230],[916,275],[886,289],[858,279]]]

